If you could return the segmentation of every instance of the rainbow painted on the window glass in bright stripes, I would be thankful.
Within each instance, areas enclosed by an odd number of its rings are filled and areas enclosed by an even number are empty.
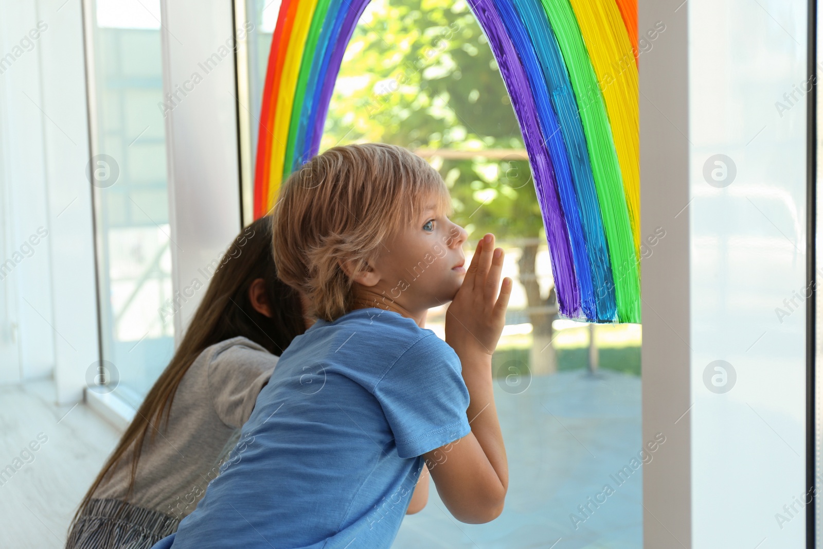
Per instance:
[[[532,168],[560,315],[640,322],[636,0],[467,0]],[[254,216],[316,155],[369,0],[283,0],[260,116]]]

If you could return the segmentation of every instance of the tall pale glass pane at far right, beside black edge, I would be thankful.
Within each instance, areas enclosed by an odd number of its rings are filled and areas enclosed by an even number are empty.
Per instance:
[[[687,4],[693,547],[807,547],[808,3]]]

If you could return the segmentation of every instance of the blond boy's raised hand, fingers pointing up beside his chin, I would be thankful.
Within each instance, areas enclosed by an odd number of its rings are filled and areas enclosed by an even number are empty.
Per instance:
[[[498,296],[503,255],[502,248],[495,249],[495,235],[487,233],[446,311],[446,342],[458,355],[480,351],[491,356],[497,347],[512,293],[512,281],[505,277]]]

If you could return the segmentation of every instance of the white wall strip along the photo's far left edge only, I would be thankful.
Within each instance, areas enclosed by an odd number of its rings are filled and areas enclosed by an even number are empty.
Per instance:
[[[7,58],[0,74],[2,170],[8,197],[7,212],[3,214],[8,216],[5,225],[9,230],[7,256],[2,260],[11,258],[16,263],[12,277],[2,283],[11,286],[21,362],[21,370],[16,375],[5,372],[2,376],[9,381],[50,375],[54,365],[56,334],[49,326],[54,322],[49,237],[34,247],[33,254],[26,249],[20,255],[13,255],[21,251],[31,235],[37,235],[38,227],[51,226],[46,202],[44,123],[52,122],[41,110],[45,105],[40,81],[42,39],[48,35],[49,28],[40,39],[31,40],[33,45],[20,44],[21,40],[30,40],[28,33],[36,30],[38,21],[48,26],[35,2],[0,2],[0,55],[11,54],[13,58],[13,61]],[[52,114],[56,123],[63,122],[60,113]],[[30,257],[26,257],[29,254]]]

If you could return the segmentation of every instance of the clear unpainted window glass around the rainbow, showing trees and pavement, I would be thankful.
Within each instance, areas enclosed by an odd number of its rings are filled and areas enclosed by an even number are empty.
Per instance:
[[[278,9],[247,1],[255,117]],[[491,523],[458,523],[432,489],[394,547],[554,547],[561,537],[562,547],[642,547],[639,463],[650,454],[639,455],[640,326],[558,318],[523,138],[466,2],[370,3],[343,58],[321,151],[349,142],[390,142],[430,161],[451,189],[453,221],[469,231],[467,261],[471,244],[493,232],[514,280],[493,357],[506,508]],[[426,321],[440,337],[444,309]]]

